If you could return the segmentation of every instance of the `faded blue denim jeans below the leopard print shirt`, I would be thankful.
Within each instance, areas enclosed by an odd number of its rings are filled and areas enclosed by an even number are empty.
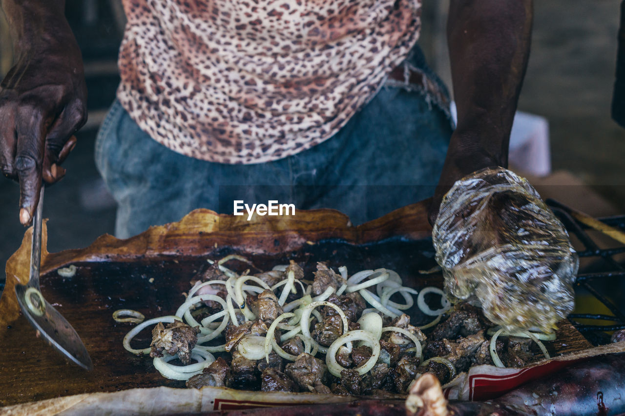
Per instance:
[[[418,49],[410,59],[446,94]],[[96,165],[118,202],[119,238],[196,208],[229,214],[234,200],[334,208],[360,224],[433,194],[451,132],[449,112],[427,92],[389,82],[327,141],[278,161],[227,165],[171,151],[116,101],[96,139]]]

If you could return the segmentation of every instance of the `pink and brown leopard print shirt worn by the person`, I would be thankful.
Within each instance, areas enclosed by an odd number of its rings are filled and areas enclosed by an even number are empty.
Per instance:
[[[325,141],[419,37],[421,0],[123,0],[118,99],[156,141],[225,164]]]

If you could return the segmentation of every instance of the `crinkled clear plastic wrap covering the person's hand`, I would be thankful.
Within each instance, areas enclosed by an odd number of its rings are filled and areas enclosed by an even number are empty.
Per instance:
[[[502,167],[462,178],[432,231],[449,299],[479,303],[509,330],[551,332],[574,306],[579,259],[526,179]]]

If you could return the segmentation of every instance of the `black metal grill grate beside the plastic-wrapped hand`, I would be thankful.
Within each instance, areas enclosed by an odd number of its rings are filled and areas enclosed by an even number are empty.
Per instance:
[[[625,247],[617,247],[612,249],[600,249],[599,246],[591,239],[587,234],[586,229],[588,227],[578,220],[574,219],[571,215],[571,209],[560,204],[552,199],[547,199],[547,205],[551,207],[554,214],[562,221],[564,227],[568,230],[570,235],[574,235],[579,239],[583,250],[577,250],[577,254],[582,257],[596,257],[597,260],[604,260],[604,265],[601,271],[583,272],[577,275],[575,282],[576,290],[578,288],[585,289],[589,294],[594,296],[601,304],[612,313],[612,315],[605,314],[570,314],[568,316],[571,324],[581,332],[593,344],[604,344],[609,342],[609,338],[604,334],[604,331],[613,331],[619,329],[625,329],[625,314],[623,308],[615,305],[614,302],[607,297],[604,293],[605,289],[598,288],[597,285],[603,282],[611,282],[613,287],[614,280],[625,277],[625,267],[614,259],[614,255],[625,253]],[[599,219],[606,225],[610,225],[616,229],[625,230],[625,215],[618,215],[615,217],[607,217]],[[611,325],[589,325],[581,324],[577,322],[578,319],[589,320],[607,320],[614,322]],[[607,339],[606,339],[607,338]]]

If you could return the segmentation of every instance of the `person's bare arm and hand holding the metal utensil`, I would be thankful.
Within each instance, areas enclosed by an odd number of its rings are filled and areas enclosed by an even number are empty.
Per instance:
[[[42,180],[64,176],[59,165],[86,122],[83,59],[64,0],[2,0],[16,62],[1,82],[0,170],[19,181],[19,220],[27,225]]]

